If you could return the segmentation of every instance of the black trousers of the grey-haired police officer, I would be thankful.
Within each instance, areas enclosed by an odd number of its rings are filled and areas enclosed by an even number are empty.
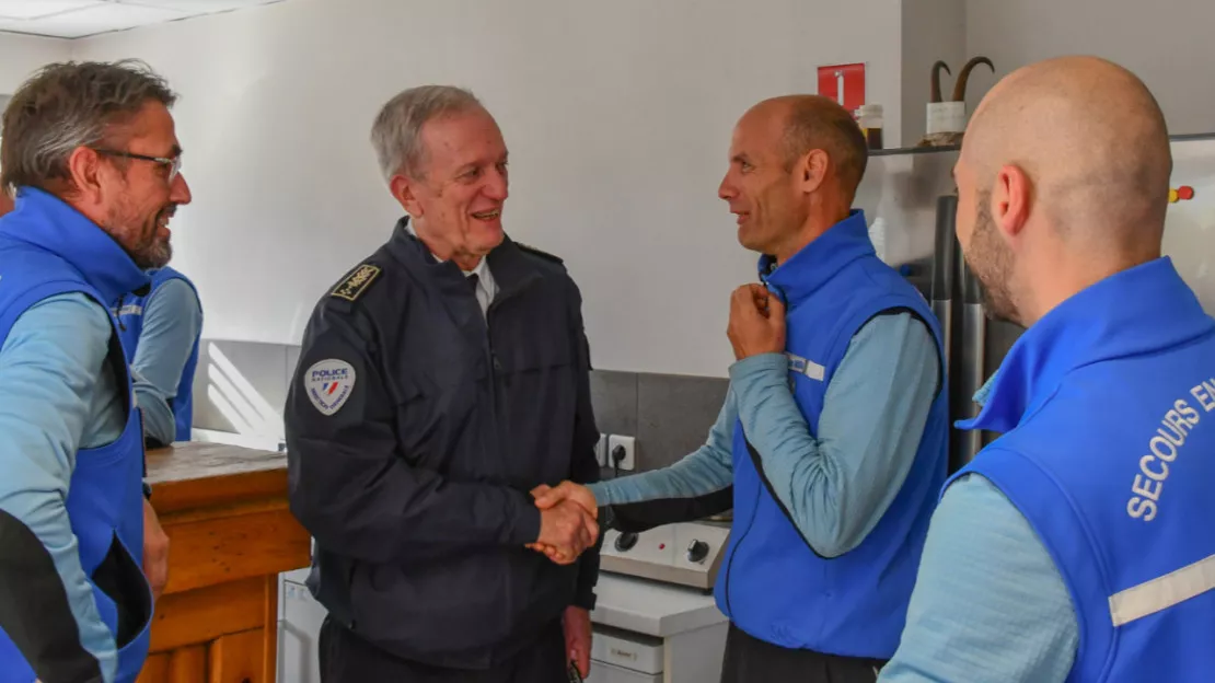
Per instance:
[[[490,670],[441,668],[396,657],[329,617],[321,625],[322,683],[569,683],[558,620],[535,645]]]

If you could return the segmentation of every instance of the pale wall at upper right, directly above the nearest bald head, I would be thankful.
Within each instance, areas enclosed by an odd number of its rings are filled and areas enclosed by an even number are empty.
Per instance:
[[[1061,55],[1091,53],[1135,72],[1171,132],[1215,131],[1211,0],[967,0],[966,44],[1000,75]],[[968,100],[977,103],[982,92]]]

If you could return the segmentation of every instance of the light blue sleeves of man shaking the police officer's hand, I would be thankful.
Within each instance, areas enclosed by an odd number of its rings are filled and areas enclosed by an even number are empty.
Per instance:
[[[599,504],[690,498],[730,486],[741,418],[773,490],[816,553],[859,546],[915,462],[939,384],[932,333],[910,314],[878,316],[857,332],[831,378],[818,434],[789,389],[782,354],[730,367],[730,390],[708,440],[673,465],[590,485]]]

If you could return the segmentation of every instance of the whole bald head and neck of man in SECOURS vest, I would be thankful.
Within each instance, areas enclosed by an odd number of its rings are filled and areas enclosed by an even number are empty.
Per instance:
[[[1001,80],[954,171],[957,239],[994,317],[1033,324],[1160,256],[1169,135],[1152,94],[1117,64],[1064,57]]]

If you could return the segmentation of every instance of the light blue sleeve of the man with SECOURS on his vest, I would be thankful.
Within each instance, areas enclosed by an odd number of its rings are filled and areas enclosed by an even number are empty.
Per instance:
[[[1079,645],[1072,595],[1029,520],[983,475],[957,478],[932,517],[903,638],[880,681],[1059,683]]]

